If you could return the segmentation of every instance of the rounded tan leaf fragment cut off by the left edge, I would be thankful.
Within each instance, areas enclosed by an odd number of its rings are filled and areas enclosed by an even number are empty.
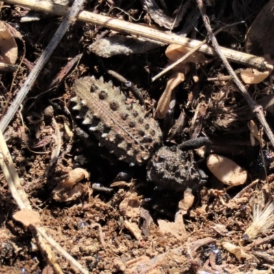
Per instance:
[[[14,37],[10,33],[10,28],[0,21],[0,62],[5,64],[15,64],[18,54]]]

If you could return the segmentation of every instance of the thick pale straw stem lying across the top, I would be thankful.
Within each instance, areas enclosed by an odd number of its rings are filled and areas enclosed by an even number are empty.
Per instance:
[[[5,2],[12,3],[14,5],[22,5],[32,10],[39,10],[41,12],[48,12],[49,14],[55,14],[59,16],[66,15],[69,10],[69,8],[67,8],[66,6],[58,5],[52,3],[51,1],[28,0],[26,2],[25,0],[6,0]],[[129,23],[120,19],[115,19],[92,12],[79,12],[76,18],[79,21],[108,27],[109,29],[114,29],[117,32],[151,38],[156,41],[165,42],[166,44],[184,45],[186,47],[189,47],[190,49],[197,47],[197,45],[201,43],[201,41],[198,40],[192,40],[189,38],[178,36],[176,34],[161,32],[157,29]],[[234,51],[232,49],[226,49],[224,47],[221,47],[221,49],[225,57],[232,62],[244,64],[245,66],[254,66],[256,68],[262,68],[265,66],[268,69],[273,69],[273,65],[269,64],[262,57],[250,55],[240,51]],[[208,55],[216,54],[214,48],[208,45],[202,45],[199,49],[199,52],[206,53]]]

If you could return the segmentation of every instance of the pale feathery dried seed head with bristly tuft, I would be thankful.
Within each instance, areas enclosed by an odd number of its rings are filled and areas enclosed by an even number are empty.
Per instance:
[[[262,206],[253,206],[253,222],[242,236],[244,240],[253,240],[260,234],[266,234],[274,226],[274,202],[262,210]]]

